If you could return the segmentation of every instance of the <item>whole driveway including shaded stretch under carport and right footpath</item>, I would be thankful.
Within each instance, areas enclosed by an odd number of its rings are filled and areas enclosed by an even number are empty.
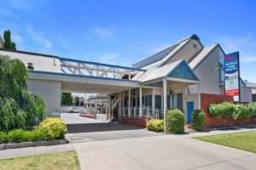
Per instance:
[[[67,124],[67,139],[78,153],[81,169],[236,170],[256,167],[254,153],[191,139],[204,133],[166,135],[73,114],[65,116],[72,117]]]

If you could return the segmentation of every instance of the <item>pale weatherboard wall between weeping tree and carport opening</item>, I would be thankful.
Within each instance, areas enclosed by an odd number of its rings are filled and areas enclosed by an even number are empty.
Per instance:
[[[28,91],[41,96],[45,102],[46,114],[48,116],[61,107],[61,82],[33,80],[27,81]]]

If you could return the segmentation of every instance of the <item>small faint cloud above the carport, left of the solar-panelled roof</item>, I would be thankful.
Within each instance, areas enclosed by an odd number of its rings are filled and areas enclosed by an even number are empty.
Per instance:
[[[113,37],[115,29],[113,26],[99,27],[95,26],[91,31],[98,37]]]

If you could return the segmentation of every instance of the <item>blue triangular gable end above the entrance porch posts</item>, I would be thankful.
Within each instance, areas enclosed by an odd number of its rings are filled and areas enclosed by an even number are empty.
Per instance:
[[[177,67],[172,70],[167,77],[199,81],[199,79],[195,76],[195,73],[184,60],[177,65]]]

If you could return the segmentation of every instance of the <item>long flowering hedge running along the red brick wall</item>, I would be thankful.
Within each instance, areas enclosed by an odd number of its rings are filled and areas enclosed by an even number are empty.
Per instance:
[[[251,102],[245,104],[233,104],[230,102],[223,102],[221,104],[211,104],[208,108],[209,116],[214,118],[233,118],[246,119],[256,117],[256,103]]]

